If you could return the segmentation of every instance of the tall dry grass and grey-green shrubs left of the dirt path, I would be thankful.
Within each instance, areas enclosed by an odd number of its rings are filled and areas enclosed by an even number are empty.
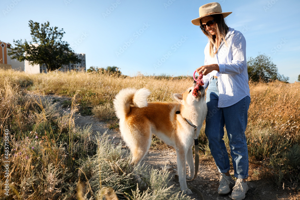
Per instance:
[[[51,80],[55,73],[49,75]],[[58,75],[64,78],[64,74]],[[166,170],[142,166],[135,171],[144,176],[135,176],[129,166],[129,153],[121,143],[116,146],[107,134],[95,135],[90,127],[75,125],[77,88],[71,106],[66,108],[68,112],[61,113],[57,103],[40,95],[45,92],[40,88],[45,80],[40,78],[45,77],[0,70],[0,155],[1,161],[10,161],[9,176],[1,173],[1,197],[190,199],[179,188],[168,186]],[[4,154],[5,129],[9,130],[8,155]],[[0,169],[5,169],[5,164],[1,162]],[[6,179],[9,196],[4,194]]]

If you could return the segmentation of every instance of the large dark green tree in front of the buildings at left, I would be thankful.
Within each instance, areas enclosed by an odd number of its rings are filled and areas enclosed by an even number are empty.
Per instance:
[[[64,29],[58,27],[49,27],[50,23],[44,24],[29,21],[32,41],[13,40],[15,45],[8,52],[13,55],[12,59],[18,61],[28,60],[32,65],[45,64],[47,70],[56,70],[69,63],[79,63],[75,53],[69,47],[69,44],[62,40]]]

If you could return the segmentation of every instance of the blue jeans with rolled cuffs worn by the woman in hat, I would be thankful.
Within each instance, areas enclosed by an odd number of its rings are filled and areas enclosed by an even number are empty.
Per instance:
[[[246,96],[232,106],[219,108],[217,83],[217,79],[211,79],[206,91],[208,112],[205,135],[208,138],[208,146],[219,172],[228,172],[230,169],[229,157],[223,140],[224,125],[226,125],[234,176],[236,178],[247,178],[249,161],[245,130],[248,121],[250,97]]]

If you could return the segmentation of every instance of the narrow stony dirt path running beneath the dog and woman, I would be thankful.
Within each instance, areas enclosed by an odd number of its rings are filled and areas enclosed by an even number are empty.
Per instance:
[[[55,100],[58,103],[58,108],[62,111],[64,108],[61,108],[61,103],[64,100],[71,100],[68,97],[61,97],[55,95],[46,95],[47,99]],[[96,133],[107,133],[111,138],[114,138],[114,141],[118,144],[122,141],[122,137],[119,131],[110,130],[106,123],[99,121],[98,118],[93,116],[82,116],[78,113],[75,115],[76,125],[83,127],[90,125],[92,130]],[[124,148],[126,148],[124,146]],[[149,150],[146,157],[143,159],[143,162],[155,169],[162,169],[165,166],[170,171],[170,177],[176,175],[177,173],[177,164],[176,164],[176,151],[173,148],[166,150]],[[251,174],[251,172],[249,172]],[[246,200],[296,200],[300,199],[299,194],[292,194],[282,188],[275,188],[270,186],[268,183],[265,183],[263,180],[253,180],[251,175],[247,179],[249,190],[246,194]],[[179,187],[179,184],[172,179],[170,185],[175,184]],[[203,160],[200,158],[199,170],[196,179],[190,183],[194,188],[200,190],[203,194],[204,199],[230,199],[228,195],[219,195],[217,194],[217,188],[219,187],[219,173],[217,167],[212,161]],[[194,199],[199,199],[197,195],[191,195]]]

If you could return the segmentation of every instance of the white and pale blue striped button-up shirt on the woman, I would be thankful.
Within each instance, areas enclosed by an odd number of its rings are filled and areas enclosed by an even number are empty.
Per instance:
[[[217,54],[209,55],[209,41],[204,49],[204,65],[218,64],[216,70],[203,76],[204,87],[208,87],[212,76],[218,76],[219,102],[218,107],[232,106],[246,96],[250,97],[246,60],[246,40],[240,31],[228,29],[226,34],[228,47],[222,41]],[[214,51],[215,51],[214,47]]]

